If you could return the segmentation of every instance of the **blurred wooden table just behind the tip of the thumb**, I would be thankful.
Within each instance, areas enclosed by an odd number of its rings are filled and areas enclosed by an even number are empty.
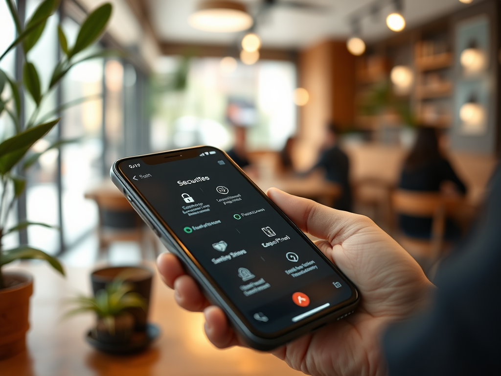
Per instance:
[[[311,173],[306,177],[294,175],[257,178],[254,182],[264,191],[272,186],[294,196],[316,199],[321,204],[332,206],[341,196],[339,184],[326,180],[322,174]]]

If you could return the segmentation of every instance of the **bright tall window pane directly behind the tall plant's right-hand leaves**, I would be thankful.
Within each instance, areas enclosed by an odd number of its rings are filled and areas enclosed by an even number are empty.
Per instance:
[[[65,18],[62,27],[71,45],[79,26]],[[62,222],[68,248],[93,232],[98,223],[95,204],[84,195],[89,186],[103,178],[103,64],[103,59],[92,59],[76,65],[62,86],[62,103],[83,101],[66,109],[61,121],[62,139],[78,140],[61,148]]]

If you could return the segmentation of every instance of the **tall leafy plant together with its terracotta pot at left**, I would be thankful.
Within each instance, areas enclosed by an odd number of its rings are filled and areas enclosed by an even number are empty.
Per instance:
[[[109,54],[101,51],[85,55],[85,50],[103,33],[111,15],[111,5],[104,4],[92,12],[82,24],[75,44],[68,46],[61,27],[58,29],[62,58],[54,68],[50,84],[43,88],[35,65],[29,61],[27,54],[37,44],[44,32],[47,20],[59,7],[59,0],[45,0],[35,10],[33,16],[23,26],[19,20],[12,0],[6,0],[18,37],[6,51],[0,55],[0,61],[14,48],[21,48],[24,56],[22,82],[16,82],[0,69],[0,116],[5,112],[12,119],[13,129],[3,129],[0,134],[9,134],[0,139],[0,359],[12,356],[25,348],[26,332],[29,328],[29,299],[33,291],[32,277],[23,273],[4,271],[3,267],[20,259],[42,259],[64,274],[61,264],[47,253],[20,245],[6,250],[3,237],[38,225],[52,227],[42,223],[28,221],[19,222],[8,227],[8,218],[16,201],[24,192],[26,179],[24,172],[33,165],[42,153],[32,152],[32,145],[43,138],[58,122],[57,114],[71,104],[82,103],[86,98],[64,104],[52,111],[41,114],[42,103],[55,90],[61,79],[76,64]],[[84,54],[83,54],[84,53]],[[5,96],[4,89],[9,88]],[[23,89],[23,90],[22,90]],[[21,95],[26,92],[34,102],[34,110],[30,116],[23,116]],[[44,107],[45,108],[45,107]],[[58,140],[45,151],[60,147],[67,141]],[[44,151],[44,152],[45,152]]]

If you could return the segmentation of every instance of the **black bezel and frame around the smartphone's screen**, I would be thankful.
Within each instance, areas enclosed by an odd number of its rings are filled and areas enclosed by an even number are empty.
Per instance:
[[[322,310],[316,314],[313,314],[309,316],[308,318],[305,318],[304,320],[298,321],[297,323],[293,323],[292,325],[287,326],[284,329],[281,329],[279,331],[276,331],[274,333],[267,333],[267,332],[262,332],[254,326],[249,320],[245,317],[245,315],[240,312],[240,310],[233,304],[231,299],[225,294],[224,290],[219,286],[219,284],[212,278],[212,276],[203,268],[203,266],[196,260],[196,258],[191,254],[191,252],[188,250],[188,248],[183,244],[183,242],[176,236],[176,234],[173,232],[173,230],[169,227],[169,225],[162,219],[162,217],[156,212],[156,210],[150,205],[150,203],[145,199],[145,197],[136,189],[134,183],[130,181],[130,179],[127,177],[127,175],[120,169],[120,164],[131,159],[142,159],[146,164],[160,164],[160,163],[170,163],[174,162],[176,160],[180,159],[189,159],[193,157],[197,157],[200,154],[200,151],[218,151],[224,154],[224,156],[228,159],[228,161],[236,168],[236,170],[254,187],[255,190],[274,208],[280,215],[281,217],[289,223],[289,225],[296,231],[312,248],[313,251],[317,252],[317,254],[324,259],[324,261],[330,265],[340,276],[343,278],[343,280],[347,283],[347,285],[350,287],[352,291],[352,296],[351,298],[334,305],[332,307],[329,307],[325,310]],[[182,154],[179,154],[182,153]],[[179,154],[177,155],[171,155],[171,154]],[[145,159],[149,159],[152,163],[148,163],[145,161]],[[167,159],[167,160],[165,160]],[[298,330],[301,330],[304,327],[310,326],[311,323],[314,323],[318,320],[322,320],[325,317],[333,316],[333,318],[336,317],[336,313],[339,311],[342,311],[346,307],[353,308],[359,301],[359,292],[356,289],[355,285],[344,275],[344,273],[339,270],[339,268],[336,267],[323,253],[318,249],[318,247],[280,210],[280,208],[271,201],[268,196],[260,189],[260,187],[252,181],[246,174],[245,172],[229,157],[223,150],[220,150],[216,147],[212,146],[194,146],[190,148],[185,148],[185,149],[176,149],[176,150],[169,150],[169,151],[162,151],[162,152],[157,152],[157,153],[151,153],[151,154],[144,154],[144,155],[138,155],[138,156],[131,156],[131,157],[126,157],[126,158],[121,158],[115,161],[115,163],[112,166],[112,170],[110,171],[115,174],[116,177],[118,177],[121,180],[121,183],[124,187],[126,187],[130,192],[126,193],[123,192],[124,195],[130,195],[132,194],[134,199],[136,201],[133,203],[136,206],[139,206],[139,208],[134,208],[136,211],[138,209],[141,209],[140,207],[143,206],[143,209],[146,209],[149,212],[148,213],[140,213],[143,216],[147,215],[149,217],[149,222],[156,222],[158,225],[157,227],[160,227],[160,229],[157,230],[165,230],[167,234],[174,240],[174,243],[172,246],[178,246],[178,251],[181,251],[182,253],[180,254],[181,256],[184,255],[186,256],[189,261],[193,264],[193,266],[196,268],[195,272],[201,273],[202,276],[204,277],[205,280],[210,284],[212,288],[215,289],[218,297],[224,301],[225,305],[231,310],[231,313],[235,314],[239,321],[241,321],[245,328],[252,333],[253,335],[267,339],[267,340],[276,340],[281,337],[284,337],[284,335],[296,332]],[[113,177],[113,175],[112,175]],[[137,200],[137,199],[140,200]],[[134,206],[134,205],[133,205]],[[142,216],[142,217],[143,217]],[[147,223],[148,221],[146,218],[143,218]],[[152,224],[149,224],[150,226]],[[158,235],[158,234],[157,234]],[[169,239],[167,239],[169,240]],[[172,241],[170,241],[172,243]],[[180,256],[178,254],[178,256]],[[183,258],[181,258],[183,259]],[[186,262],[184,258],[184,262]],[[198,281],[201,282],[201,281]],[[228,313],[228,312],[227,312]],[[324,320],[322,320],[324,321]]]

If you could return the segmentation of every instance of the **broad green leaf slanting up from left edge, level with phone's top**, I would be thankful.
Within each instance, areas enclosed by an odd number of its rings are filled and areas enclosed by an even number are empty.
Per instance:
[[[45,136],[58,122],[59,118],[48,123],[26,129],[0,143],[0,174],[5,174],[18,163],[28,149]]]

